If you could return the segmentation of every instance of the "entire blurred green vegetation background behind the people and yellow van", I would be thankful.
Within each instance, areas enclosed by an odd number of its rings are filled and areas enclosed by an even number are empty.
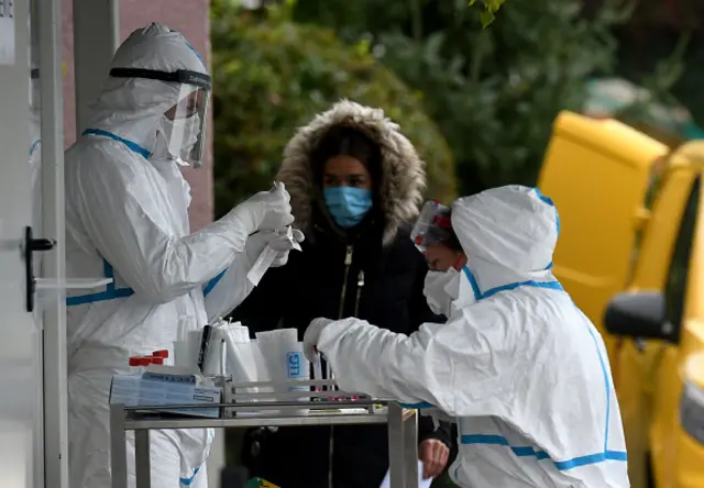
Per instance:
[[[398,122],[444,201],[535,184],[564,109],[702,138],[698,19],[701,0],[212,0],[218,213],[340,98]]]

